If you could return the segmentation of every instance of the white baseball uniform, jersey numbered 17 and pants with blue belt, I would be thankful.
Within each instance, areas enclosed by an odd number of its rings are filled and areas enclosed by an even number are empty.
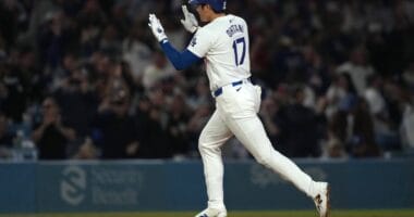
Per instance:
[[[228,14],[200,27],[187,50],[205,58],[216,111],[199,137],[208,194],[208,207],[226,208],[223,203],[223,162],[221,145],[235,136],[256,161],[287,180],[308,196],[315,196],[312,178],[292,161],[276,151],[257,112],[260,91],[249,81],[248,29],[246,22]]]

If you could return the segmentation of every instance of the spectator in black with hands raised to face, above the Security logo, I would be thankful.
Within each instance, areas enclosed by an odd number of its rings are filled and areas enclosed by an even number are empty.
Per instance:
[[[53,98],[42,103],[42,119],[34,127],[32,139],[39,150],[39,159],[65,159],[70,141],[76,138],[75,130],[66,127]]]

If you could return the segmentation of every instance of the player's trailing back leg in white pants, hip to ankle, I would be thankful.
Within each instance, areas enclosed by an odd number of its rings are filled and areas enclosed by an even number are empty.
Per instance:
[[[244,82],[240,89],[227,87],[217,102],[218,111],[226,117],[227,126],[260,164],[313,196],[312,178],[271,145],[256,114],[260,102],[255,86]]]

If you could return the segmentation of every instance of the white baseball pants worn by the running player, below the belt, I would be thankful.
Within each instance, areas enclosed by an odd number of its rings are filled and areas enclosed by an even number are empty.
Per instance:
[[[291,181],[308,196],[314,196],[314,181],[292,161],[273,149],[257,116],[260,88],[247,79],[242,85],[222,87],[216,98],[216,111],[202,131],[198,149],[203,158],[208,207],[224,208],[223,162],[221,145],[231,137],[252,153],[256,161]]]

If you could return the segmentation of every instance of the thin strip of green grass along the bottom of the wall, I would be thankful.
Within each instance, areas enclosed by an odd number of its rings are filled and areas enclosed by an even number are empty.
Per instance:
[[[169,213],[78,213],[78,214],[3,214],[0,217],[193,217],[195,212]],[[331,217],[413,217],[414,209],[333,210]],[[317,217],[315,210],[301,212],[230,212],[229,217]]]

